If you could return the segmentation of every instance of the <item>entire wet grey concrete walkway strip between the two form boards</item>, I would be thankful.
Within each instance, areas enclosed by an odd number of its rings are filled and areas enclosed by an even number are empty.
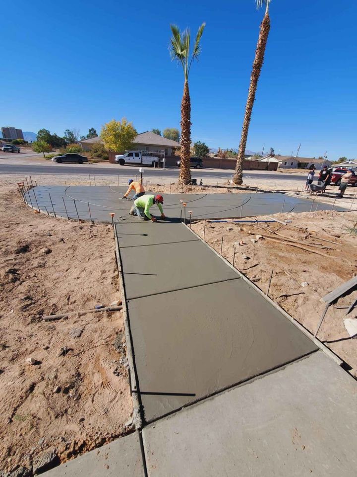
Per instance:
[[[317,349],[183,224],[116,231],[146,421]]]

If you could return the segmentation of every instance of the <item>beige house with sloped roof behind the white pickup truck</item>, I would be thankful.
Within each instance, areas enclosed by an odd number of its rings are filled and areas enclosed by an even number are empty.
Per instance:
[[[83,151],[90,151],[94,144],[103,143],[99,136],[79,141]],[[133,149],[136,151],[165,152],[165,156],[173,156],[174,150],[180,147],[179,143],[166,139],[151,131],[145,131],[136,136]],[[116,151],[120,153],[124,151]]]

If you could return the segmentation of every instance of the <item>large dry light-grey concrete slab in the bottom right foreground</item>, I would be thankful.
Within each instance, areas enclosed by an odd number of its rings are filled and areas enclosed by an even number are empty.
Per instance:
[[[322,351],[143,430],[152,477],[352,477],[356,382]]]

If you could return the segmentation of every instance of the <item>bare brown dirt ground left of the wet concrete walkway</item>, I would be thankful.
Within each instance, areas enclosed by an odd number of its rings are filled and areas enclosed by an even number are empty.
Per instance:
[[[115,242],[109,225],[35,214],[13,177],[0,221],[0,470],[35,469],[128,432],[122,312],[42,318],[120,301]]]

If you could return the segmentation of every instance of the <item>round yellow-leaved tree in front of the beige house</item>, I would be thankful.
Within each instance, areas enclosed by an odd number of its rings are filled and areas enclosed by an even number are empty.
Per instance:
[[[125,118],[121,121],[112,119],[102,127],[100,133],[101,140],[108,151],[123,152],[132,149],[137,131],[133,124],[128,123]]]

